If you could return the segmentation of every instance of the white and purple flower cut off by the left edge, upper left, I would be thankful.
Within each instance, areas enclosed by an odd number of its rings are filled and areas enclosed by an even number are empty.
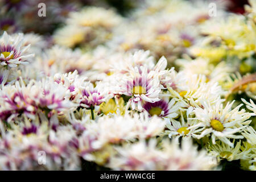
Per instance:
[[[15,68],[19,64],[27,64],[27,59],[34,55],[28,55],[26,51],[30,46],[22,46],[22,44],[22,34],[13,38],[4,32],[0,38],[0,64],[10,68]]]

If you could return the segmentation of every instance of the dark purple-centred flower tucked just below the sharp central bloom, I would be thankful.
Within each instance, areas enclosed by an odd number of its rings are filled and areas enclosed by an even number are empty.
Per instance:
[[[157,115],[158,117],[168,117],[175,118],[177,117],[176,111],[179,109],[177,105],[175,105],[175,98],[172,98],[169,101],[168,97],[162,98],[160,101],[156,101],[154,103],[146,102],[143,105],[143,108],[151,115]]]

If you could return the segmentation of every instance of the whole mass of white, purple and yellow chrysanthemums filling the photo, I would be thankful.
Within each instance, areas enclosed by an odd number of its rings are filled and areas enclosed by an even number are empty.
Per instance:
[[[256,170],[256,1],[209,3],[84,6],[50,38],[5,27],[0,169]]]

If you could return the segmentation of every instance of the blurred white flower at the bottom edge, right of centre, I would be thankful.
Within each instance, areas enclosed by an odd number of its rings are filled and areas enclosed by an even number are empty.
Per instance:
[[[177,140],[163,141],[160,150],[156,140],[116,147],[117,155],[110,156],[108,166],[118,170],[210,170],[216,161],[205,151],[197,151],[191,140],[183,140],[181,148]]]

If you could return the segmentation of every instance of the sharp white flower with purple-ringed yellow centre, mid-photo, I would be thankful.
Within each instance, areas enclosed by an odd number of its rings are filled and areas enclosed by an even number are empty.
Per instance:
[[[127,108],[142,110],[142,101],[159,101],[160,82],[154,71],[147,72],[146,67],[134,68],[129,75],[124,76],[121,85],[118,85],[119,94],[131,96]]]

